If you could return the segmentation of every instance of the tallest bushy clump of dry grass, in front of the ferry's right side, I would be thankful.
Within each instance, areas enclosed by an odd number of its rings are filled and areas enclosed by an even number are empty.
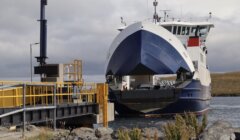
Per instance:
[[[185,113],[184,116],[176,115],[175,122],[164,126],[166,140],[197,139],[207,126],[207,116],[204,115],[199,123],[195,114]]]

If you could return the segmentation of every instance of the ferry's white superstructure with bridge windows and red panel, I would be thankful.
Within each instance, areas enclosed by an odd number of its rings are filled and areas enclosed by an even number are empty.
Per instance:
[[[210,22],[163,22],[161,26],[174,34],[185,46],[193,62],[195,73],[193,79],[199,79],[202,85],[211,83],[207,66],[207,35],[214,25]]]

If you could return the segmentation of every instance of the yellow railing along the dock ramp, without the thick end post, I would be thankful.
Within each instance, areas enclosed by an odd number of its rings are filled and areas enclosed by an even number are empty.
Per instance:
[[[25,97],[27,105],[53,104],[54,92],[56,92],[57,104],[97,103],[97,85],[95,83],[20,83],[5,81],[0,83],[0,108],[22,106],[24,84],[26,85]]]

